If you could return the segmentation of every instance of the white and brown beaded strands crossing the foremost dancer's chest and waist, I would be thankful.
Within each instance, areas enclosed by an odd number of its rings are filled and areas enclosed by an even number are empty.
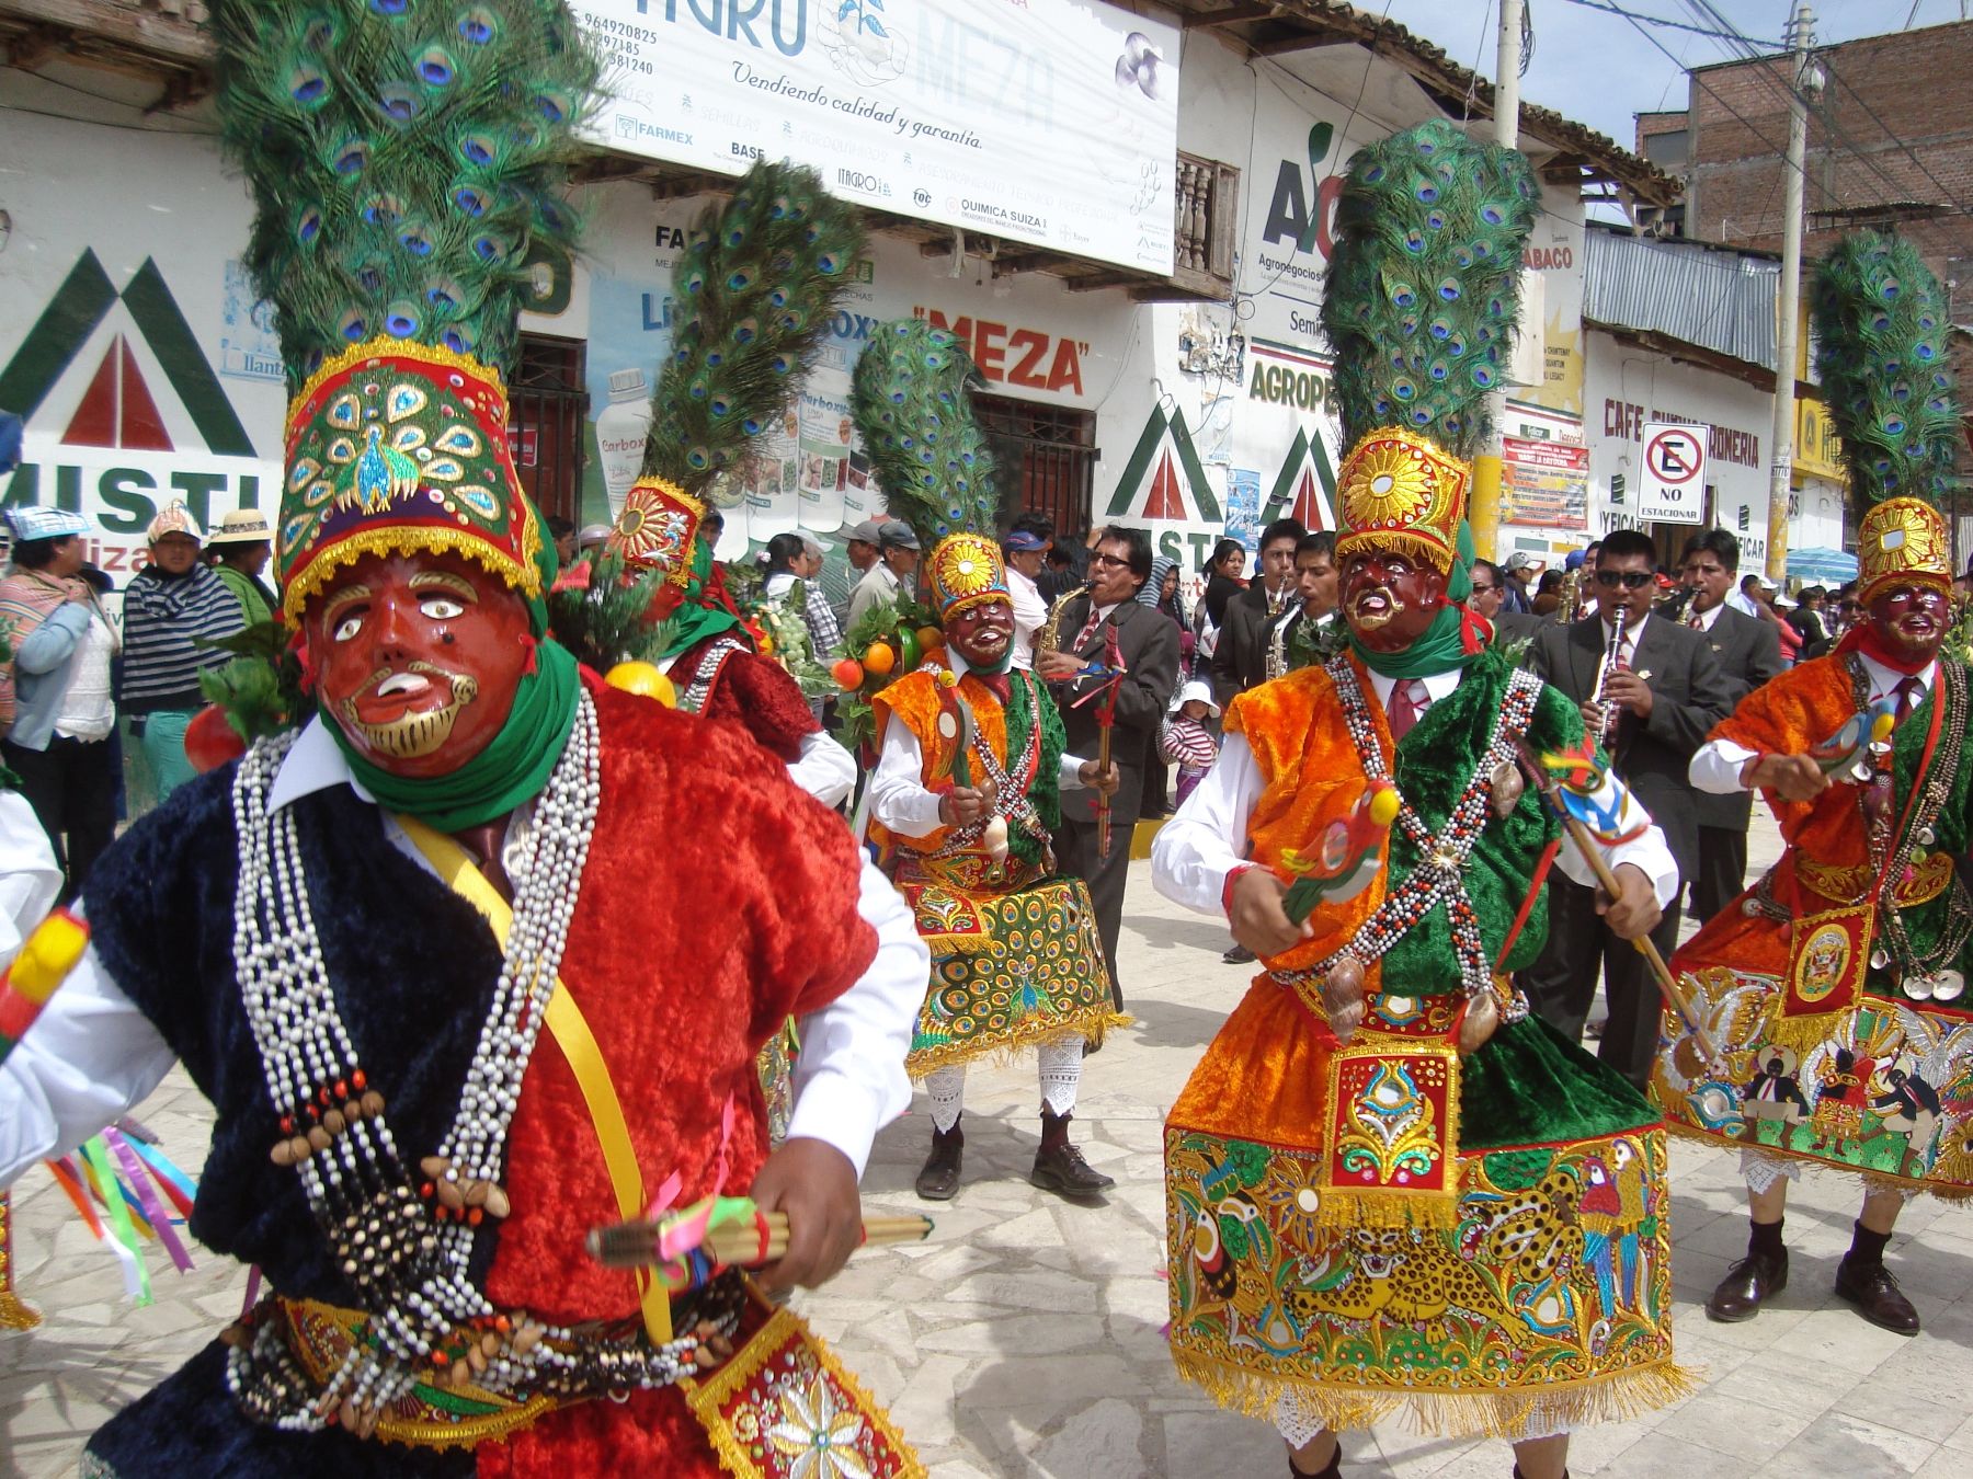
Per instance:
[[[513,925],[499,982],[452,1124],[436,1154],[418,1162],[422,1175],[412,1175],[343,1023],[294,809],[268,810],[290,743],[255,745],[233,785],[241,840],[233,952],[280,1118],[272,1160],[300,1175],[337,1268],[371,1319],[326,1382],[310,1382],[278,1323],[260,1321],[229,1353],[229,1386],[258,1420],[316,1430],[331,1414],[375,1414],[418,1380],[456,1380],[468,1371],[474,1386],[511,1396],[572,1398],[677,1380],[693,1369],[696,1339],[663,1349],[578,1339],[497,1311],[470,1276],[479,1229],[509,1211],[499,1187],[507,1128],[556,986],[596,826],[596,706],[582,696],[529,824],[515,826]]]

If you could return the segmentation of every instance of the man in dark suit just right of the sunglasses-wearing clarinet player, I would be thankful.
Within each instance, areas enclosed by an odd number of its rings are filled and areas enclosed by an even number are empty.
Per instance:
[[[1774,623],[1742,615],[1726,605],[1740,578],[1740,540],[1724,528],[1709,528],[1685,544],[1685,625],[1699,631],[1726,678],[1726,696],[1738,706],[1782,670],[1782,641]],[[1695,791],[1699,809],[1699,872],[1693,874],[1693,917],[1713,919],[1746,887],[1746,826],[1754,814],[1754,793],[1730,797]]]

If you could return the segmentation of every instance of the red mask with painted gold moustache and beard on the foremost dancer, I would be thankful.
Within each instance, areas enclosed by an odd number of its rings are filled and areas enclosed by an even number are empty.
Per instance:
[[[365,556],[302,621],[316,694],[373,765],[450,775],[485,749],[535,665],[527,605],[446,554]]]

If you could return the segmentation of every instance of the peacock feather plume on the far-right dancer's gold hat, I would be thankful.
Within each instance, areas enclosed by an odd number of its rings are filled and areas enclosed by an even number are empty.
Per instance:
[[[1918,248],[1863,231],[1809,286],[1815,369],[1863,507],[1951,489],[1959,406],[1945,357],[1945,294]]]

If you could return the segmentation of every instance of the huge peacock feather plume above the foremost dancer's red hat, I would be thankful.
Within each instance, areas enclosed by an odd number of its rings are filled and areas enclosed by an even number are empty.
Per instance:
[[[290,388],[367,339],[507,371],[598,63],[564,0],[217,0],[219,118],[253,185],[247,266]]]

